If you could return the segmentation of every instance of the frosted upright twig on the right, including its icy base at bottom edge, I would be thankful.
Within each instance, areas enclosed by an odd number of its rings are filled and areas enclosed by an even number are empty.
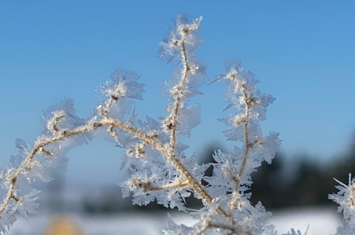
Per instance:
[[[259,202],[253,206],[250,201],[251,173],[262,161],[271,163],[280,145],[278,133],[263,136],[259,121],[265,120],[266,108],[275,99],[256,90],[259,81],[251,71],[245,72],[241,62],[226,63],[226,72],[217,76],[212,83],[225,80],[228,84],[225,110],[234,108],[235,114],[220,119],[229,126],[224,131],[228,140],[241,142],[232,154],[220,150],[214,155],[214,172],[204,177],[206,189],[213,198],[196,215],[199,222],[192,228],[173,225],[165,234],[272,234],[272,226],[266,225],[270,213]],[[210,84],[212,84],[210,83]],[[222,213],[221,213],[222,212]]]

